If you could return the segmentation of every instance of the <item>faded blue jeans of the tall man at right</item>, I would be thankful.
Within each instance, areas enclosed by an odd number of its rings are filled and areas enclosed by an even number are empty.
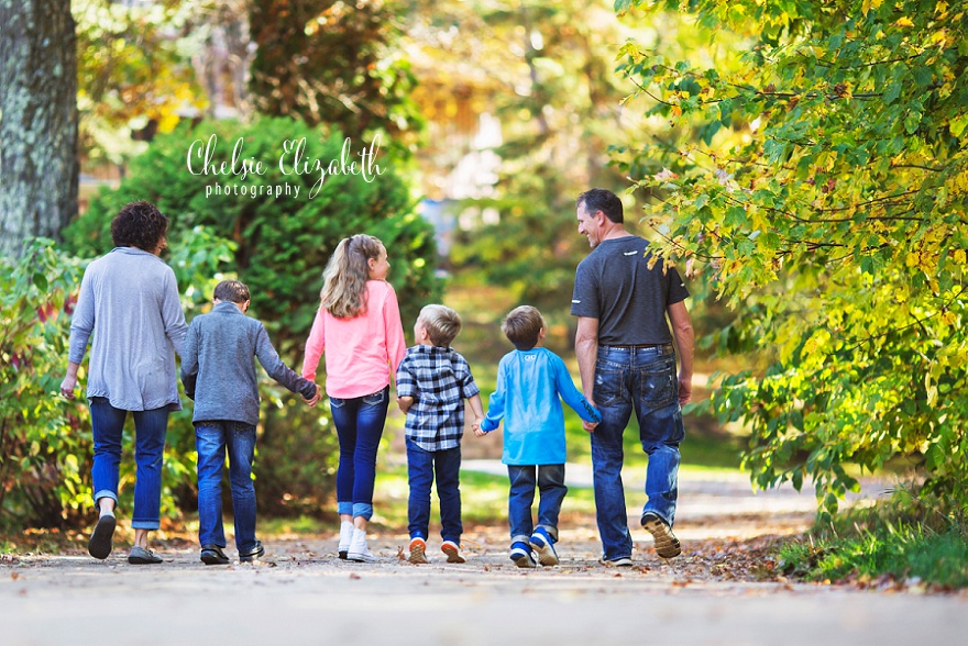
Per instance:
[[[595,405],[602,423],[592,433],[592,469],[598,533],[606,560],[631,556],[631,535],[622,484],[622,435],[632,410],[642,450],[649,456],[642,510],[670,525],[679,495],[679,444],[685,436],[672,345],[650,348],[598,347]]]

